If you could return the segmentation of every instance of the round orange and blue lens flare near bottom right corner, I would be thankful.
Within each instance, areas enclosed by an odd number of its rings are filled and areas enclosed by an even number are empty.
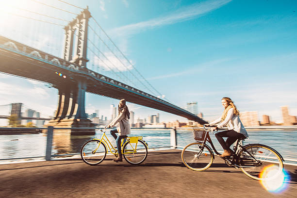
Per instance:
[[[279,167],[276,165],[268,165],[263,168],[260,173],[261,178],[272,178],[271,180],[260,181],[262,186],[271,193],[280,193],[286,188],[285,180],[287,180],[288,175],[284,171],[279,172]],[[276,175],[278,174],[278,175]]]

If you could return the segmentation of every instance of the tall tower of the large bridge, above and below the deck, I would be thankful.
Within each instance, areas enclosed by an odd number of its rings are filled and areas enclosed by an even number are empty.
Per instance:
[[[88,62],[86,57],[90,17],[91,14],[87,7],[64,27],[63,58],[79,66],[80,70],[86,69],[86,63]],[[46,126],[62,128],[94,127],[92,121],[85,114],[85,80],[80,76],[76,76],[71,84],[55,84],[54,87],[59,90],[58,108],[54,118]],[[75,134],[74,130],[69,132]],[[94,134],[95,131],[90,130],[87,133]]]

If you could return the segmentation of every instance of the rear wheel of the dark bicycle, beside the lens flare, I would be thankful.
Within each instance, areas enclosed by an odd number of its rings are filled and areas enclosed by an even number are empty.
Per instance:
[[[254,180],[270,180],[283,169],[281,156],[272,148],[260,144],[249,144],[238,154],[240,169]],[[267,173],[267,171],[272,171]]]

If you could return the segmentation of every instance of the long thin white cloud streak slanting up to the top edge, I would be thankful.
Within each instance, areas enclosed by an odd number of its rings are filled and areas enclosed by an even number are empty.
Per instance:
[[[115,28],[112,32],[117,34],[133,34],[147,29],[152,29],[156,27],[161,27],[165,25],[170,25],[185,20],[190,20],[194,17],[201,16],[208,12],[211,12],[215,9],[220,8],[221,6],[227,4],[231,0],[209,0],[205,2],[194,3],[190,6],[183,7],[176,10],[172,14],[167,16],[153,18],[147,21],[134,23],[119,28]]]

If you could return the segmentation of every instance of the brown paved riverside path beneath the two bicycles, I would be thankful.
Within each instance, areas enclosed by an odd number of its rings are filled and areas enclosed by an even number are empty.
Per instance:
[[[114,163],[113,156],[90,166],[78,159],[0,165],[0,198],[296,198],[297,166],[280,194],[228,167],[216,157],[202,172],[181,162],[181,150],[149,152],[144,164]]]

